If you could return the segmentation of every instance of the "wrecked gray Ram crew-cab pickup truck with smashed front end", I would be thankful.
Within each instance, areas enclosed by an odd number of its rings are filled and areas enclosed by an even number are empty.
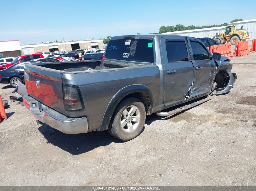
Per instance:
[[[108,130],[128,141],[146,115],[169,116],[230,91],[231,68],[197,38],[111,37],[101,61],[26,64],[23,100],[38,123],[61,132]]]

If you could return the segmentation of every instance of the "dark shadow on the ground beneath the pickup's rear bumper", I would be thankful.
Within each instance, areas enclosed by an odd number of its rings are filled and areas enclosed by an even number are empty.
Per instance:
[[[108,131],[65,134],[46,124],[40,126],[38,130],[44,135],[47,143],[57,146],[73,155],[82,154],[100,146],[109,145],[112,142],[123,143],[123,141],[113,138]]]

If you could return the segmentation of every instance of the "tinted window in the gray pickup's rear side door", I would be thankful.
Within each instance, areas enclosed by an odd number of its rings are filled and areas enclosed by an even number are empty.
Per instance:
[[[188,51],[184,40],[167,41],[165,45],[168,62],[188,61]]]

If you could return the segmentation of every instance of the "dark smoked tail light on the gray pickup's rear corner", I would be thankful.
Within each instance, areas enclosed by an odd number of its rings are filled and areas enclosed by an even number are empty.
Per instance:
[[[67,111],[78,111],[84,108],[81,92],[77,86],[63,84],[64,107]]]

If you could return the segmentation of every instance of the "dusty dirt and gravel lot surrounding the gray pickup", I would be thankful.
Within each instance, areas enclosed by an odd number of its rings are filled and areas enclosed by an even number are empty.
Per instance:
[[[232,62],[238,80],[229,94],[167,119],[147,116],[129,142],[107,131],[66,135],[10,103],[0,185],[256,185],[256,53]]]

